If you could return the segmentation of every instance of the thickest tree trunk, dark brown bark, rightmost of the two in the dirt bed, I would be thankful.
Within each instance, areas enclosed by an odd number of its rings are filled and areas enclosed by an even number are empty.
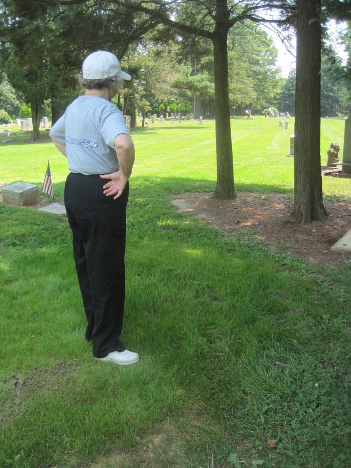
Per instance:
[[[294,205],[296,222],[323,219],[320,158],[320,0],[297,0],[297,54],[294,141]]]

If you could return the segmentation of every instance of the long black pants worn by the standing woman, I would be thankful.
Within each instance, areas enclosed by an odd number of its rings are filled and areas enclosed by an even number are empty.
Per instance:
[[[123,194],[103,194],[106,180],[98,175],[70,173],[64,202],[73,233],[73,254],[88,320],[85,337],[93,342],[93,354],[104,357],[123,351],[122,330],[125,298],[125,237],[128,184]]]

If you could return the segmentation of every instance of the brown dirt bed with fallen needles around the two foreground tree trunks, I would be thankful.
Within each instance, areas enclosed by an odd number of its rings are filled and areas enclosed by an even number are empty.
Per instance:
[[[175,195],[172,204],[226,234],[247,231],[311,262],[344,267],[351,261],[351,255],[331,252],[351,229],[351,199],[325,201],[326,219],[307,226],[292,218],[292,195],[240,193],[234,200],[218,200],[211,193],[183,193]]]

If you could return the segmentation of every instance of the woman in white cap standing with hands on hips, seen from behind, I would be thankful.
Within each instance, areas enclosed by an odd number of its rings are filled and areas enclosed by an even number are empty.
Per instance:
[[[134,364],[122,330],[128,180],[134,145],[119,109],[111,103],[124,80],[117,57],[98,51],[83,62],[79,96],[53,125],[50,136],[67,157],[64,191],[73,233],[73,254],[88,321],[85,337],[93,355],[118,365]]]

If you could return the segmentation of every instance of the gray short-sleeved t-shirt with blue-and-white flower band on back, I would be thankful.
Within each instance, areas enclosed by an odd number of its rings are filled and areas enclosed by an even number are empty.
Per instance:
[[[79,96],[50,130],[66,145],[70,172],[86,176],[118,171],[113,140],[121,133],[129,135],[122,113],[98,96]]]

